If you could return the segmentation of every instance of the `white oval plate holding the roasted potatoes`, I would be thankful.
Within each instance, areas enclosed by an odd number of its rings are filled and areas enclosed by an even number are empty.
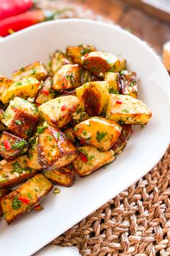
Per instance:
[[[116,161],[76,180],[61,194],[47,196],[44,211],[27,213],[10,226],[0,223],[0,254],[31,255],[109,199],[146,174],[169,145],[170,80],[156,54],[129,32],[100,22],[66,19],[30,27],[0,43],[0,74],[41,60],[47,63],[55,49],[88,43],[128,60],[128,69],[140,78],[139,98],[153,112],[146,128],[135,128],[128,146]]]

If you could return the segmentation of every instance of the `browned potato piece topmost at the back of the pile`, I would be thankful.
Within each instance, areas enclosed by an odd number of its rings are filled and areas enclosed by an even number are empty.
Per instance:
[[[81,64],[81,57],[86,53],[91,53],[91,51],[95,51],[96,48],[91,45],[78,45],[78,46],[68,46],[66,48],[66,54],[71,58],[73,63]]]

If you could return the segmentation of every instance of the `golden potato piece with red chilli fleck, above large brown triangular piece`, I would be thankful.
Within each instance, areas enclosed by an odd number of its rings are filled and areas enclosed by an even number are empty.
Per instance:
[[[79,98],[68,95],[49,100],[38,107],[42,119],[51,125],[63,128],[72,120],[72,113],[77,110],[79,106]]]

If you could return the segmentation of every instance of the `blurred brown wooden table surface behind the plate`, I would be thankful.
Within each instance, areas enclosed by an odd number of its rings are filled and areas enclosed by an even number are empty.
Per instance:
[[[170,40],[170,25],[161,22],[156,17],[127,4],[122,0],[68,0],[73,4],[80,4],[94,13],[111,19],[121,27],[130,30],[142,40],[145,40],[161,55],[162,45]]]

